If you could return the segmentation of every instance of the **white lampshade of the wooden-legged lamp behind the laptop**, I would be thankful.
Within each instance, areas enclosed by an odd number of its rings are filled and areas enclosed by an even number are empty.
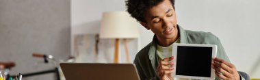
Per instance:
[[[104,12],[100,38],[138,38],[138,22],[127,12]]]

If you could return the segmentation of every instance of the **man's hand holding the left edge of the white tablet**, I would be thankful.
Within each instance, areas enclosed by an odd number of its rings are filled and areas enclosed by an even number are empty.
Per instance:
[[[157,75],[161,80],[173,80],[171,74],[174,70],[174,62],[170,62],[174,59],[173,56],[161,59],[159,66],[157,67]]]

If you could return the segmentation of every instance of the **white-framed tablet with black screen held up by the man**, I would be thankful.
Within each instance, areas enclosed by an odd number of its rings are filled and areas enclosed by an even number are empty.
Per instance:
[[[172,46],[174,72],[172,77],[188,79],[215,79],[211,68],[212,58],[216,57],[214,44],[177,44]]]

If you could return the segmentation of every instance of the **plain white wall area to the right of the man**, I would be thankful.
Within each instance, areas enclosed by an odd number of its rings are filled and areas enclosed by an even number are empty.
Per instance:
[[[238,70],[260,78],[260,1],[177,0],[177,18],[185,29],[210,31],[218,36]]]

